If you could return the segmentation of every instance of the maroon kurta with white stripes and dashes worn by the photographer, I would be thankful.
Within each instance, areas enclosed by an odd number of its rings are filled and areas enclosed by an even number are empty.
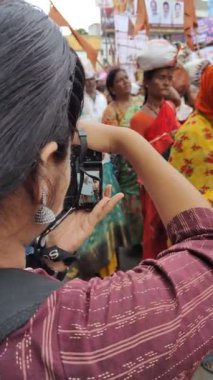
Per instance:
[[[1,344],[0,380],[191,379],[213,349],[213,211],[168,233],[157,261],[53,293]]]

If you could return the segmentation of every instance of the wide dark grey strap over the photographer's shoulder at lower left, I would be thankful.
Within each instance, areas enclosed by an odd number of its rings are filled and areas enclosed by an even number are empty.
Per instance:
[[[51,293],[56,280],[23,269],[0,269],[0,342],[24,326]]]

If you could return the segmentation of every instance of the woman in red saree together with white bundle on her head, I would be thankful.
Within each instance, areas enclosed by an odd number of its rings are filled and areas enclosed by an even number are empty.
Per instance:
[[[156,51],[158,59],[156,59]],[[144,71],[145,101],[130,121],[131,128],[144,136],[154,148],[168,159],[173,133],[179,123],[175,106],[165,99],[172,92],[173,70],[177,49],[164,40],[152,40],[138,59]],[[143,208],[143,257],[155,258],[167,247],[167,236],[158,213],[141,183]]]

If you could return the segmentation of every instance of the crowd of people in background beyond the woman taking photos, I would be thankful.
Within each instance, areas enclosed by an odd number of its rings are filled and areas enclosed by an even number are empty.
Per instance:
[[[153,44],[158,40],[150,50]],[[169,44],[164,49],[176,54]],[[135,130],[213,202],[212,83],[213,66],[205,59],[168,65],[142,57],[135,82],[121,67],[86,69],[81,119]],[[120,251],[156,258],[170,244],[142,180],[121,156],[103,155],[103,189],[109,183],[125,197],[80,249],[86,276],[114,273]]]

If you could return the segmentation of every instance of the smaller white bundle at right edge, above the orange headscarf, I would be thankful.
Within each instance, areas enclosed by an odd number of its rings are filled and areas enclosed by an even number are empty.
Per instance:
[[[200,79],[204,69],[210,65],[211,62],[205,58],[194,59],[193,61],[187,62],[184,65],[187,73],[189,74],[191,84],[195,86],[200,85]]]

